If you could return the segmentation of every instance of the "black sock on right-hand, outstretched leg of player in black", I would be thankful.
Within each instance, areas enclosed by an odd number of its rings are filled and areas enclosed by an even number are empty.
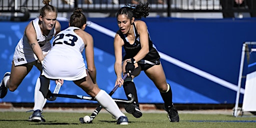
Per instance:
[[[167,85],[168,89],[166,90],[166,92],[160,92],[165,108],[167,108],[168,106],[172,106],[172,92],[170,85],[168,83]]]

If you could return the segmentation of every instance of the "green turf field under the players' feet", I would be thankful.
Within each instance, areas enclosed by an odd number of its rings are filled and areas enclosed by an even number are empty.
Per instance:
[[[79,117],[90,115],[90,113],[79,112],[43,112],[46,122],[27,121],[32,112],[0,112],[0,127],[256,127],[256,117],[234,117],[227,114],[193,114],[180,113],[179,122],[169,122],[166,113],[143,113],[142,117],[135,118],[125,113],[128,117],[128,125],[117,125],[115,119],[109,113],[99,112],[93,123],[82,124]]]

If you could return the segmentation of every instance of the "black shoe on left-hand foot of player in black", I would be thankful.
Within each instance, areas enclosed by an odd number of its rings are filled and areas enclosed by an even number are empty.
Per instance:
[[[132,114],[136,118],[139,118],[142,116],[142,113],[139,107],[134,103],[124,104],[124,109],[126,110],[126,112]]]

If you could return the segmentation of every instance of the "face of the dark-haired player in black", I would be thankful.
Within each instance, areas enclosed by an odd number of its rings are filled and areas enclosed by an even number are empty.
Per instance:
[[[131,21],[126,14],[119,14],[117,16],[117,24],[123,34],[127,34],[129,32]]]

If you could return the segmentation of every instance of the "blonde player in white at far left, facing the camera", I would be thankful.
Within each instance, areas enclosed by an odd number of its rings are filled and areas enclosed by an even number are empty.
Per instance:
[[[56,20],[57,9],[49,2],[50,0],[43,0],[45,5],[39,10],[39,17],[30,21],[25,27],[23,37],[16,45],[13,54],[11,71],[6,72],[1,80],[0,98],[6,95],[7,88],[14,91],[33,65],[41,71],[41,62],[51,47],[50,39],[60,31],[60,23]],[[33,110],[40,114],[41,108],[40,105],[37,105],[38,93],[41,93],[39,88],[39,86],[35,86]],[[29,120],[35,121],[31,117]],[[36,121],[40,120],[41,118]]]

